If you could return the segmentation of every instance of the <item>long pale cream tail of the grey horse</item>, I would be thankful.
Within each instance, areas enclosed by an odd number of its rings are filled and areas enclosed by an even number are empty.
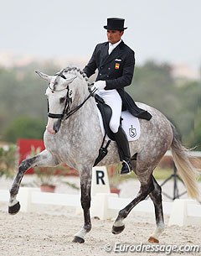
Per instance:
[[[171,145],[173,160],[175,166],[178,170],[178,175],[183,180],[184,184],[186,185],[188,196],[198,199],[199,191],[198,191],[198,172],[201,170],[196,168],[193,163],[195,164],[196,159],[195,157],[190,154],[190,149],[186,149],[183,147],[176,128],[171,123],[173,128],[173,142]]]

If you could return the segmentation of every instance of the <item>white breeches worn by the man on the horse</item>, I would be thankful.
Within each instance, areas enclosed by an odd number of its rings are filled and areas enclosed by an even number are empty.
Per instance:
[[[106,102],[106,104],[111,107],[112,114],[109,125],[111,131],[113,133],[117,133],[120,126],[122,107],[122,101],[119,93],[116,91],[116,89],[113,89],[96,91],[96,94],[103,98],[104,102]]]

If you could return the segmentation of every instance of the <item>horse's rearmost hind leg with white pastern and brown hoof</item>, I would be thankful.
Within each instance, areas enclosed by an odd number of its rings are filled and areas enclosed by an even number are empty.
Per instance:
[[[154,190],[149,194],[151,197],[154,207],[157,227],[152,233],[151,237],[148,239],[151,243],[159,243],[158,238],[162,231],[164,230],[164,219],[162,212],[162,189],[161,186],[157,184],[157,180],[152,177]]]

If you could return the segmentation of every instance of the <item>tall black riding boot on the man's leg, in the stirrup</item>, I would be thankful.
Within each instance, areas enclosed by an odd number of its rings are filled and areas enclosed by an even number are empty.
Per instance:
[[[119,150],[120,159],[122,161],[121,175],[131,174],[131,153],[126,133],[124,132],[123,128],[121,128],[121,125],[118,132],[114,133],[114,136]]]

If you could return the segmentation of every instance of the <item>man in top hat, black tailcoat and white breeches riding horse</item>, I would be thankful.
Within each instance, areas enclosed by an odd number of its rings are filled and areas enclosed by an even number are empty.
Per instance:
[[[96,45],[89,63],[83,70],[86,76],[90,77],[98,69],[93,89],[97,89],[95,93],[102,97],[112,110],[109,125],[114,133],[122,161],[121,175],[130,174],[132,170],[128,140],[120,124],[122,105],[127,108],[134,106],[134,109],[130,110],[135,112],[135,116],[142,115],[143,118],[147,114],[138,109],[131,97],[124,91],[124,87],[131,84],[135,66],[134,51],[121,39],[124,30],[127,29],[124,28],[124,22],[123,18],[107,18],[107,25],[104,29],[107,30],[108,41]]]

